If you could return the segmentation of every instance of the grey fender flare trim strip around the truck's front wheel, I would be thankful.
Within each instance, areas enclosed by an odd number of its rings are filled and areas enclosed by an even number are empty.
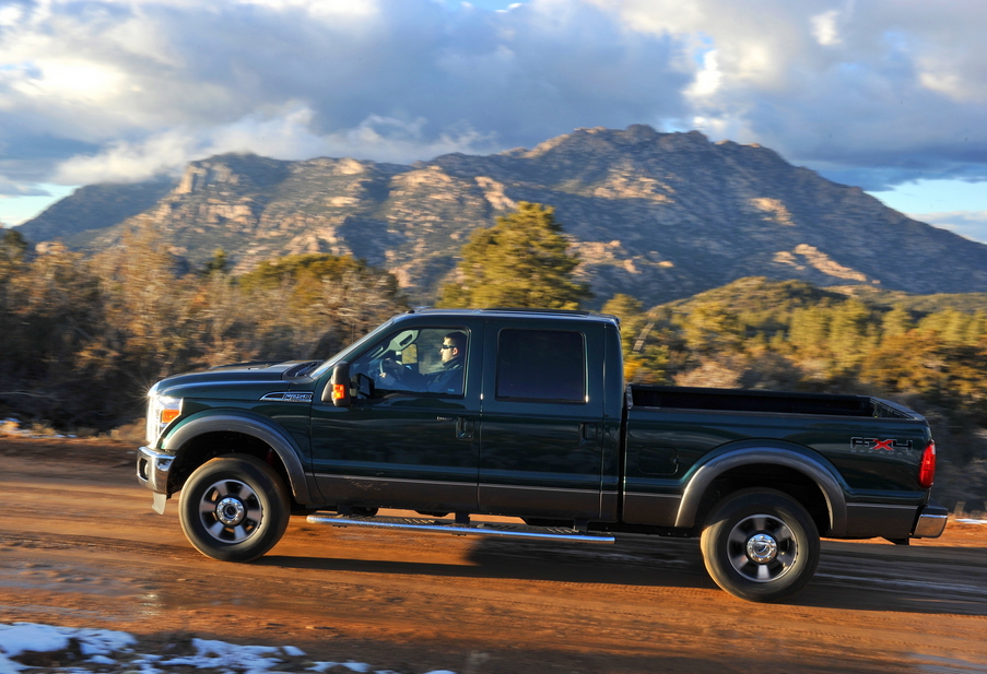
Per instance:
[[[308,481],[305,477],[305,469],[298,458],[299,450],[282,428],[271,424],[270,419],[246,414],[204,414],[191,416],[161,440],[161,448],[169,452],[178,452],[186,442],[204,433],[240,433],[266,442],[284,464],[287,480],[291,483],[292,494],[299,504],[312,504],[313,499]]]

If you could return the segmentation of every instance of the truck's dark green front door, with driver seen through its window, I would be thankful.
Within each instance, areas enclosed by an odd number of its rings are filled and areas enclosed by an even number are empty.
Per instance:
[[[477,509],[481,328],[475,319],[399,324],[354,354],[363,393],[350,407],[316,400],[312,409],[314,478],[326,502]],[[461,362],[446,367],[460,340]]]

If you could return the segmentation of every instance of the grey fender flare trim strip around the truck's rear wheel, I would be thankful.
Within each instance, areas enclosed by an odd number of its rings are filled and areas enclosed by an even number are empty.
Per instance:
[[[833,472],[822,461],[799,451],[778,447],[744,447],[728,450],[700,466],[682,495],[675,527],[690,528],[695,524],[700,502],[714,480],[731,469],[752,463],[789,468],[812,480],[823,493],[830,511],[830,530],[820,533],[839,536],[846,532],[846,497]]]

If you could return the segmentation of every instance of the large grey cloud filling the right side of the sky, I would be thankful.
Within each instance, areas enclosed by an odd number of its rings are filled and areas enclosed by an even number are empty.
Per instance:
[[[987,179],[987,3],[954,0],[598,0],[635,31],[702,34],[718,85],[696,71],[694,119],[716,138],[885,186]],[[701,61],[702,62],[702,61]],[[878,178],[878,179],[874,179]]]

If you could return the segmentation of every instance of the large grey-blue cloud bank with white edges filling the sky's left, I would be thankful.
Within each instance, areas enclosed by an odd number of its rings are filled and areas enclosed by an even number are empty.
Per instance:
[[[583,2],[92,0],[4,12],[7,128],[95,146],[51,157],[61,182],[134,179],[224,149],[410,162],[575,127],[659,126],[685,110],[691,79],[675,38],[628,32]]]

